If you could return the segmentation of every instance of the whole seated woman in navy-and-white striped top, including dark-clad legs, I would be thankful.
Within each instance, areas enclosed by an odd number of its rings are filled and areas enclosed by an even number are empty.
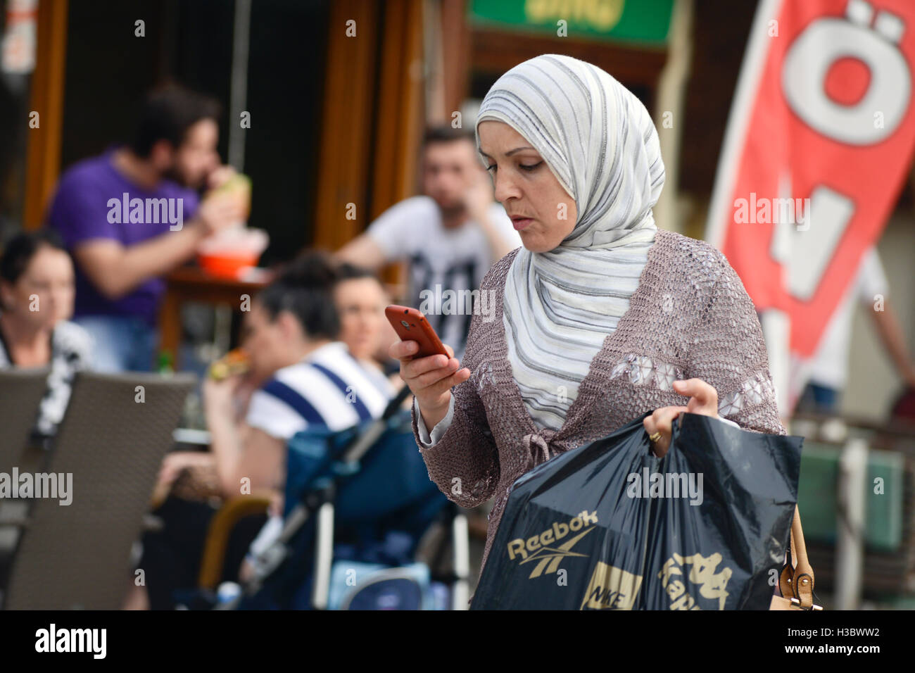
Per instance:
[[[163,472],[173,475],[187,467],[215,467],[227,499],[265,490],[276,495],[260,534],[248,522],[233,532],[223,581],[237,579],[255,535],[260,544],[268,544],[281,524],[286,442],[309,426],[339,430],[378,418],[394,396],[386,378],[371,373],[338,341],[333,297],[338,279],[327,257],[312,253],[288,266],[253,299],[242,323],[249,372],[204,383],[210,451],[176,452],[166,459]],[[251,387],[253,392],[245,395],[243,389]],[[237,403],[245,398],[240,422]],[[209,503],[170,497],[154,514],[164,526],[144,536],[139,567],[145,570],[146,586],[132,587],[125,603],[132,609],[172,609],[175,590],[194,585],[215,510]],[[257,519],[250,523],[260,526]]]

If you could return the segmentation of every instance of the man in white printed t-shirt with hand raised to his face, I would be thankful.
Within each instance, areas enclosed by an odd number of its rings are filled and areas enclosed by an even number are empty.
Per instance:
[[[479,288],[496,261],[519,247],[521,236],[479,163],[472,132],[432,128],[423,141],[423,191],[396,203],[338,253],[351,264],[377,270],[393,262],[409,265],[404,301],[426,314],[442,342],[464,353]],[[386,351],[386,348],[384,349]]]

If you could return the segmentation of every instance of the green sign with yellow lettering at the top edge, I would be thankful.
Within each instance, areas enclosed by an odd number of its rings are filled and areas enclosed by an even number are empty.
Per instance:
[[[472,0],[479,27],[662,46],[674,0]]]

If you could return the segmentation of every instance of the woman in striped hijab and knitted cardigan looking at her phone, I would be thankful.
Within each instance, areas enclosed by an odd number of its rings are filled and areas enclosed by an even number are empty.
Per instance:
[[[495,320],[474,315],[463,363],[413,358],[415,342],[391,354],[432,479],[458,505],[496,498],[483,565],[518,477],[646,412],[659,456],[684,411],[785,434],[739,277],[711,245],[654,224],[664,167],[631,92],[538,56],[492,86],[477,138],[523,243],[480,285]]]

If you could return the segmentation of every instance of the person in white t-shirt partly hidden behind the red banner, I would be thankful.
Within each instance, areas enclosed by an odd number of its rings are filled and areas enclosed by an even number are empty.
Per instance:
[[[848,351],[856,302],[861,302],[873,318],[881,342],[903,381],[915,386],[915,367],[906,351],[899,320],[889,307],[888,292],[887,276],[877,249],[870,247],[862,255],[856,277],[826,326],[813,359],[807,364],[809,379],[798,401],[798,411],[834,413],[838,410],[839,394],[845,389],[848,378]],[[801,371],[801,368],[797,367],[795,371]]]

